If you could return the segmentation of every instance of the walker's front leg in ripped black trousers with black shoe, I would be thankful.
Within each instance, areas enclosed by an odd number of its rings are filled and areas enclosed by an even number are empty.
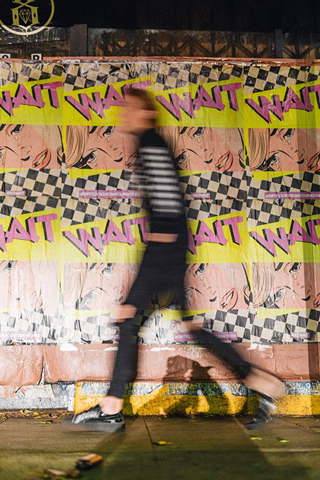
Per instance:
[[[71,423],[82,424],[83,427],[93,430],[124,429],[122,396],[125,384],[134,379],[136,372],[136,335],[139,328],[131,315],[128,314],[127,317],[127,312],[142,308],[145,302],[159,291],[182,285],[184,268],[180,265],[180,253],[176,255],[175,245],[151,242],[147,246],[138,276],[125,304],[119,309],[122,312],[121,318],[119,315],[117,318],[120,324],[120,339],[108,395],[99,405],[74,415]]]

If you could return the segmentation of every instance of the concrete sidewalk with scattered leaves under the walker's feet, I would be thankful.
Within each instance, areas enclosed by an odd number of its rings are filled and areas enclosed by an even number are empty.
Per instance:
[[[88,480],[320,478],[320,418],[275,418],[254,432],[245,430],[247,421],[138,417],[127,419],[124,433],[103,434],[64,431],[60,418],[9,416],[0,419],[0,478],[71,470],[90,452],[103,462],[84,472]],[[154,443],[160,440],[172,444]]]

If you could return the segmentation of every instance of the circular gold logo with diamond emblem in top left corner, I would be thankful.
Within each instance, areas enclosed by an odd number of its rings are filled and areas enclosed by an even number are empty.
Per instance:
[[[34,35],[54,14],[53,0],[1,0],[0,25],[14,35]]]

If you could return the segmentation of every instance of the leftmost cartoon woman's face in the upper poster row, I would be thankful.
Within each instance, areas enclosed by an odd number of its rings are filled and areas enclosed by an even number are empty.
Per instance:
[[[57,169],[62,140],[56,125],[0,125],[0,167]]]

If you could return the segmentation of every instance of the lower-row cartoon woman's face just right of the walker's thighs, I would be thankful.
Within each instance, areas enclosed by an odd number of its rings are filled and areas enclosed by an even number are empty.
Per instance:
[[[242,263],[192,263],[185,280],[189,310],[247,309],[249,286]]]

